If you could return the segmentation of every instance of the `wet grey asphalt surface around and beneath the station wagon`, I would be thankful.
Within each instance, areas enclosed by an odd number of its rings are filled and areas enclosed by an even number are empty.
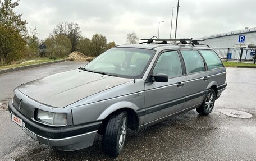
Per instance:
[[[72,152],[58,151],[27,136],[11,122],[7,100],[13,89],[84,63],[62,62],[0,75],[0,160],[256,160],[256,69],[227,68],[226,90],[209,116],[195,110],[135,132],[129,130],[122,154],[110,158],[102,152],[102,136],[93,146]],[[252,118],[222,114],[244,111]]]

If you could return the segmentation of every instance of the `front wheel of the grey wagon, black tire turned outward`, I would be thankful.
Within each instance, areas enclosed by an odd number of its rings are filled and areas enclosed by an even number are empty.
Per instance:
[[[103,151],[111,157],[117,157],[124,148],[128,115],[126,111],[112,114],[103,134]]]

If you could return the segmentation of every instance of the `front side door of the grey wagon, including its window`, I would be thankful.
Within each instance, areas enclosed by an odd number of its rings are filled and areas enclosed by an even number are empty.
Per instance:
[[[180,54],[177,50],[162,52],[152,68],[152,74],[168,75],[168,82],[145,83],[144,123],[155,121],[182,110],[184,86],[178,85],[185,80]]]

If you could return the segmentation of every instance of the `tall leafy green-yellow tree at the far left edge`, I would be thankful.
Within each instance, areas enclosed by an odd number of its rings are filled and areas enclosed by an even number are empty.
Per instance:
[[[7,65],[24,56],[26,21],[17,15],[14,8],[19,1],[0,0],[0,64]]]

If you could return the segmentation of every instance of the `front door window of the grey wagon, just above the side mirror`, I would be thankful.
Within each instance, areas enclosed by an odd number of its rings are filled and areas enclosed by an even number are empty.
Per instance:
[[[169,79],[182,75],[180,57],[177,51],[164,52],[159,56],[153,69],[153,75],[158,73],[168,75]]]

